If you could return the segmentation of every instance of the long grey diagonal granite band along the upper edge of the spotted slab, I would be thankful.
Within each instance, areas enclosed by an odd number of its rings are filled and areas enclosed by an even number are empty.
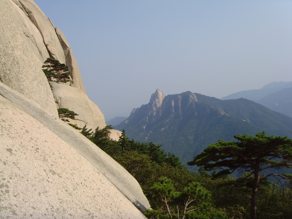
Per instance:
[[[67,144],[104,174],[137,208],[141,211],[150,208],[150,204],[143,194],[140,185],[132,175],[76,129],[62,120],[53,117],[39,105],[3,83],[0,83],[0,94],[67,142]],[[49,138],[48,136],[46,137]]]

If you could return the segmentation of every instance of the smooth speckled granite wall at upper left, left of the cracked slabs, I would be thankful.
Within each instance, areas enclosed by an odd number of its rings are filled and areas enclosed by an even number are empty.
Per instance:
[[[48,81],[11,4],[15,3],[0,1],[0,79],[57,116]]]

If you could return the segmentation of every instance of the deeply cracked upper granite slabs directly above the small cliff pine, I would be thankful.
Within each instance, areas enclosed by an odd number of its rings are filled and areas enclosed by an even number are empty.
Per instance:
[[[15,4],[12,3],[11,5],[15,8],[15,11],[18,11],[18,19],[21,22],[25,21],[22,28],[32,42],[30,47],[40,59],[40,66],[49,57],[59,60],[60,63],[65,63],[71,72],[71,78],[74,81],[73,86],[85,93],[77,61],[61,30],[53,25],[34,1],[13,0],[13,2]],[[21,11],[22,13],[20,13]]]

